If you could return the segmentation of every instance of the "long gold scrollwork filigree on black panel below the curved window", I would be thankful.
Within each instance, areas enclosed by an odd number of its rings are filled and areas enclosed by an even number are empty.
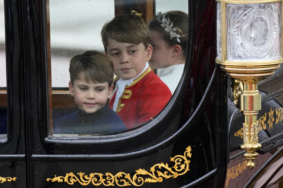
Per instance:
[[[170,158],[172,162],[175,162],[173,167],[169,167],[166,163],[158,163],[150,168],[150,172],[139,169],[136,170],[136,174],[131,176],[131,174],[119,172],[115,175],[111,173],[101,174],[101,173],[91,173],[89,176],[84,175],[84,173],[78,173],[77,177],[72,172],[66,173],[65,176],[56,176],[54,178],[47,178],[47,181],[51,182],[65,182],[69,185],[73,185],[75,182],[79,182],[80,185],[86,186],[92,183],[94,186],[104,185],[104,186],[114,186],[119,187],[125,186],[142,186],[144,183],[156,183],[162,182],[163,178],[176,178],[180,175],[186,174],[189,171],[189,163],[191,158],[191,148],[188,146],[184,152],[184,156],[176,155]],[[161,169],[161,170],[156,170]],[[174,169],[174,170],[173,170]],[[148,176],[146,178],[143,175]]]

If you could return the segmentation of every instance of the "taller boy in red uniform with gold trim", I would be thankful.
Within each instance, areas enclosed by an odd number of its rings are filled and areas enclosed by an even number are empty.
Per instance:
[[[172,94],[148,65],[152,46],[147,25],[137,15],[118,15],[103,26],[101,37],[114,74],[120,77],[110,108],[127,129],[153,119]]]

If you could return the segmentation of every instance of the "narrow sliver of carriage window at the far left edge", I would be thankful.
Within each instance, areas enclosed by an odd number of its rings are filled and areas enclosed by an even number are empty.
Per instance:
[[[7,134],[7,84],[4,0],[0,0],[0,140]]]

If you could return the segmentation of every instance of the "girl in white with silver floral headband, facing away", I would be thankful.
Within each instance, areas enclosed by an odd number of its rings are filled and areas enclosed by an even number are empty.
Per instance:
[[[160,69],[158,76],[175,91],[182,76],[188,45],[189,15],[169,11],[155,15],[149,22],[153,53],[149,61],[152,69]]]

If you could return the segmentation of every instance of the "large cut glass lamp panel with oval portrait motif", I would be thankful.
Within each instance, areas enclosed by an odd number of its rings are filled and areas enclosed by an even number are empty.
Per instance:
[[[282,57],[281,2],[226,4],[227,60]]]

